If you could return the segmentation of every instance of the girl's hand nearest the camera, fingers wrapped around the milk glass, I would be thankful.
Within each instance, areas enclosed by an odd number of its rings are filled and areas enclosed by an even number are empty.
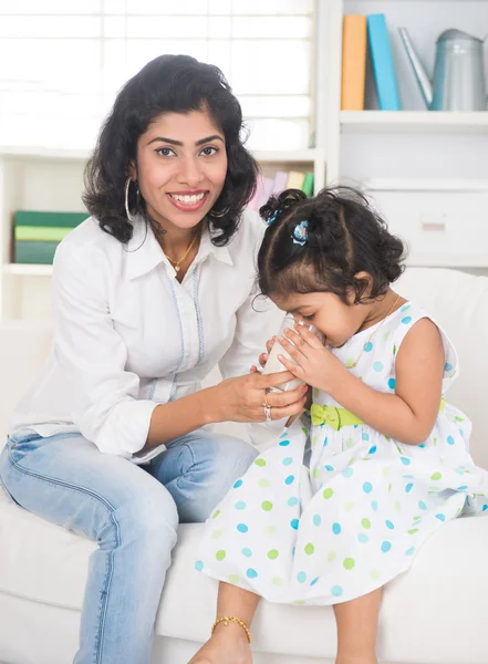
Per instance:
[[[304,325],[295,324],[294,330],[285,330],[278,341],[297,364],[283,355],[278,356],[280,362],[312,387],[332,394],[338,382],[349,376],[345,366]]]

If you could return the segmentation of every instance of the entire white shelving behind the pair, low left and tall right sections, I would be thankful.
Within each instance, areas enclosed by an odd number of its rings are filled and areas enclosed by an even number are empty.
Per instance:
[[[262,173],[313,172],[315,191],[324,184],[375,184],[368,191],[392,228],[411,246],[412,264],[456,267],[488,272],[487,205],[488,111],[427,112],[397,33],[406,27],[428,72],[435,40],[447,28],[482,38],[488,0],[315,0],[314,144],[301,151],[257,152]],[[384,13],[398,77],[403,111],[383,112],[366,71],[368,111],[341,111],[342,21],[344,14]],[[488,74],[488,62],[487,62]],[[283,137],[285,146],[287,137]],[[83,167],[79,151],[0,146],[0,318],[49,318],[50,266],[10,263],[11,212],[15,209],[81,211]],[[430,187],[419,199],[412,179]],[[391,187],[391,180],[399,183]],[[469,181],[481,183],[477,191]],[[463,183],[449,206],[446,186]],[[378,187],[377,183],[383,183]],[[423,208],[418,208],[418,200]],[[463,205],[461,205],[463,204]],[[420,206],[422,207],[422,206]],[[469,241],[459,243],[459,224],[469,219]],[[406,211],[409,211],[408,216]],[[402,212],[402,214],[401,214]],[[425,221],[437,215],[442,222]],[[432,230],[436,227],[437,230]],[[435,239],[445,251],[435,250]],[[486,242],[486,247],[484,246]],[[424,243],[425,247],[418,246]],[[426,249],[430,247],[430,249]]]

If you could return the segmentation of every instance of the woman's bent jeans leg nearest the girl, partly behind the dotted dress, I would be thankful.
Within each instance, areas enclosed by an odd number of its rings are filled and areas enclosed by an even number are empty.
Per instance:
[[[181,523],[205,521],[232,484],[257,457],[256,449],[233,436],[197,429],[167,445],[148,471],[165,485]]]

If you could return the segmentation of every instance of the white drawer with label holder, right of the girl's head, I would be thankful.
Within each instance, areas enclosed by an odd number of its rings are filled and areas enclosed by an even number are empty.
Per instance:
[[[408,248],[408,264],[488,267],[488,180],[370,180],[373,206]]]

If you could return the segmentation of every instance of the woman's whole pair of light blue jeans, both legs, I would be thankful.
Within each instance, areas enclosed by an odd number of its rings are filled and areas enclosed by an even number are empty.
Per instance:
[[[0,479],[27,510],[97,541],[74,664],[147,664],[180,522],[205,521],[256,450],[198,429],[139,467],[80,434],[10,438]]]

